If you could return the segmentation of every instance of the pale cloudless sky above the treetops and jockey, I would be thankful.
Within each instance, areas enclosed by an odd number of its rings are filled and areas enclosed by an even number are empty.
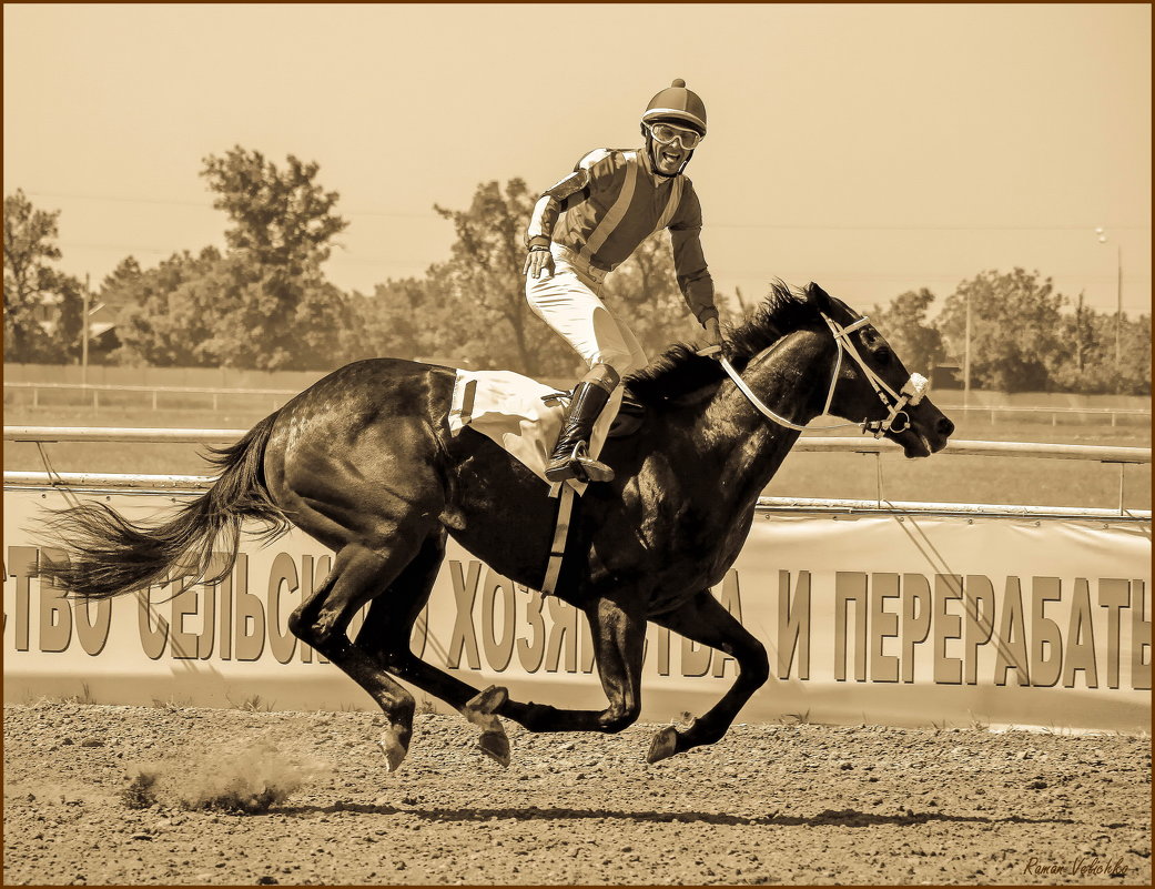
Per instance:
[[[684,77],[720,289],[817,281],[867,309],[1019,265],[1150,311],[1148,5],[3,7],[3,187],[59,209],[62,267],[223,246],[201,161],[316,161],[371,292],[448,258],[433,203],[541,191],[640,143]],[[1106,244],[1095,228],[1106,229]]]

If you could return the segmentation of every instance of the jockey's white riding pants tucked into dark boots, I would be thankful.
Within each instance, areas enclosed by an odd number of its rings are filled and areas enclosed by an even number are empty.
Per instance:
[[[526,299],[534,313],[557,331],[588,368],[609,364],[621,379],[644,368],[646,353],[638,338],[602,302],[605,273],[558,244],[553,244],[550,252],[553,275],[526,279]],[[619,383],[594,425],[589,443],[594,458],[602,451],[624,392],[625,386]]]

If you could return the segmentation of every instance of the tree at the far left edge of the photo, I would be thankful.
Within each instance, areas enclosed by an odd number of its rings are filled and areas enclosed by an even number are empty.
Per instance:
[[[53,262],[59,210],[20,188],[3,200],[3,351],[12,362],[68,362],[80,354],[83,284]]]

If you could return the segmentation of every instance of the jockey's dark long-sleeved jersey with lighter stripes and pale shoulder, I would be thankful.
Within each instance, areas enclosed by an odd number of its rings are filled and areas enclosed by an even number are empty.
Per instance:
[[[702,253],[702,209],[683,175],[653,171],[644,149],[598,148],[545,192],[526,246],[552,240],[602,272],[612,272],[650,235],[670,230],[678,287],[699,321],[717,316],[714,280]]]

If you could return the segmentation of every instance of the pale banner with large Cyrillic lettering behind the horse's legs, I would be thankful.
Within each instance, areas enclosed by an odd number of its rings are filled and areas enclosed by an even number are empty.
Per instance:
[[[141,519],[186,495],[85,496]],[[246,542],[219,586],[74,603],[29,578],[38,549],[27,528],[62,505],[57,491],[5,491],[7,701],[374,706],[288,631],[330,564],[320,544],[298,532]],[[1149,523],[763,512],[715,594],[770,655],[772,680],[740,720],[1150,723]],[[452,541],[413,650],[521,699],[605,701],[584,617]],[[643,718],[668,720],[709,709],[735,664],[651,627],[643,676]]]

